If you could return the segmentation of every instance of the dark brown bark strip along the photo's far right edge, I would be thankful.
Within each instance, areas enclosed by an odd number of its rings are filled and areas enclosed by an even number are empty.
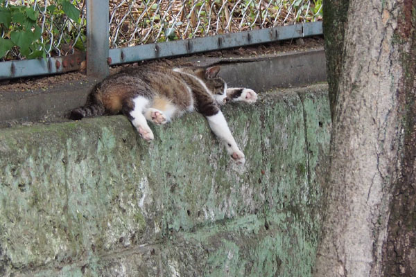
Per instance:
[[[404,76],[399,103],[404,132],[401,175],[390,204],[388,240],[383,246],[384,276],[416,276],[416,1],[405,0],[396,32]]]

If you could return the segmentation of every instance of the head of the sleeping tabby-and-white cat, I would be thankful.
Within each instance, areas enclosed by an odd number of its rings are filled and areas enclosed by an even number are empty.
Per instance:
[[[211,66],[205,69],[204,82],[211,91],[218,104],[223,105],[227,101],[227,83],[218,76],[220,66]]]

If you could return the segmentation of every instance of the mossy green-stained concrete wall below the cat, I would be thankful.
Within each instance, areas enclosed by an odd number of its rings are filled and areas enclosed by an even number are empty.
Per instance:
[[[199,114],[0,132],[0,276],[311,276],[327,85],[223,108],[238,166]]]

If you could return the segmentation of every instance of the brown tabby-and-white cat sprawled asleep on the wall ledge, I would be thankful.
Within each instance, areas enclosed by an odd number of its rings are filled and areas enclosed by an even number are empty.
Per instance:
[[[139,66],[112,75],[97,84],[84,107],[71,111],[71,119],[119,114],[122,112],[146,141],[154,139],[147,120],[165,124],[186,111],[204,115],[211,130],[223,141],[229,156],[244,163],[219,106],[229,101],[252,103],[257,94],[252,89],[227,88],[218,77],[220,66]]]

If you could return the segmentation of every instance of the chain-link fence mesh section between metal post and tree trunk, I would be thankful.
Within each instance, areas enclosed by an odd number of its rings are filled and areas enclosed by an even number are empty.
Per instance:
[[[322,1],[110,1],[110,47],[206,37],[322,19]]]

